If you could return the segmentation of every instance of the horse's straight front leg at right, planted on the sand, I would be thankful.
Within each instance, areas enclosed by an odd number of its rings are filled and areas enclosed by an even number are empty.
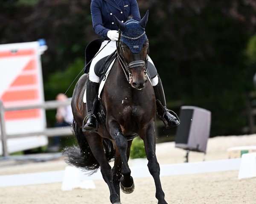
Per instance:
[[[141,138],[144,141],[145,152],[148,159],[148,170],[154,178],[156,186],[156,198],[158,204],[167,204],[164,199],[164,193],[160,181],[160,166],[157,162],[156,157],[156,141],[155,141],[155,131],[154,122],[150,122],[146,128],[140,133]]]

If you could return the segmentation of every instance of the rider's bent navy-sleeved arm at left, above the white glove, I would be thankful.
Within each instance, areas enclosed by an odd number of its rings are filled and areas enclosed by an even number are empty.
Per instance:
[[[103,26],[99,4],[92,0],[90,9],[93,20],[93,30],[96,32],[96,34],[99,34],[102,37],[107,37],[108,31],[110,31],[110,29]]]

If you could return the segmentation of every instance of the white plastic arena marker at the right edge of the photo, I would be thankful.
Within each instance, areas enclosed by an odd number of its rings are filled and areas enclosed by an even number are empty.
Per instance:
[[[238,178],[256,177],[256,153],[242,155]]]

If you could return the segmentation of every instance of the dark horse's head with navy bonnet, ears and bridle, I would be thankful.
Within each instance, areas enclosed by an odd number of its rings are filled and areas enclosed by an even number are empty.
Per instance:
[[[146,66],[148,61],[148,39],[145,34],[145,26],[148,21],[148,11],[140,22],[128,20],[125,23],[114,17],[116,26],[121,30],[121,39],[117,51],[119,61],[123,63],[129,74],[129,80],[133,88],[142,89],[147,82]]]

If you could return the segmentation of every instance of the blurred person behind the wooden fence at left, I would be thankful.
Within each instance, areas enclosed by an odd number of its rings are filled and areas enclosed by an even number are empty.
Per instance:
[[[68,98],[64,94],[58,94],[56,100],[60,102],[67,101]],[[73,113],[71,105],[61,106],[57,108],[55,127],[70,126],[73,123]],[[49,146],[48,152],[58,152],[61,147],[61,137],[55,136],[52,139],[52,145]]]

